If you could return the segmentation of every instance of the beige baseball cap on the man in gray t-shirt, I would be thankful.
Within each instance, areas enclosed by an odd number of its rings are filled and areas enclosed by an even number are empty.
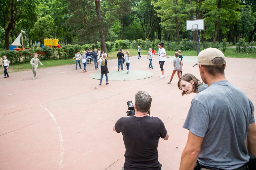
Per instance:
[[[218,63],[213,63],[212,60],[215,59],[216,57],[221,57],[224,59],[224,62],[218,62]],[[219,66],[223,65],[226,63],[225,56],[219,49],[215,48],[207,48],[202,50],[198,56],[197,56],[197,64],[203,65],[203,66]],[[193,65],[193,67],[195,66]]]

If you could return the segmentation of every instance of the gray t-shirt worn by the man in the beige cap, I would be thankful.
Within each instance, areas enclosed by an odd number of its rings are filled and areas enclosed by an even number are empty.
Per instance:
[[[248,97],[226,80],[197,94],[183,128],[203,137],[200,165],[236,169],[248,162],[245,141],[249,124],[255,122],[253,112]]]

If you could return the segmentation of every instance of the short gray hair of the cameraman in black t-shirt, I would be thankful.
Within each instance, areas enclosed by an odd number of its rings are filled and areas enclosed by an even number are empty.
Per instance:
[[[147,92],[138,91],[135,94],[136,110],[143,113],[148,112],[148,110],[150,110],[150,107],[151,107],[151,101],[152,101],[152,98]]]

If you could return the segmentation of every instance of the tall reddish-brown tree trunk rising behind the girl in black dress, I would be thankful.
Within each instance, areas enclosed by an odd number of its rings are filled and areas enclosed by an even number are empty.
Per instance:
[[[100,47],[101,50],[103,50],[105,53],[108,53],[107,47],[106,47],[106,41],[105,41],[105,36],[103,32],[103,24],[101,20],[101,13],[100,13],[100,0],[95,0],[95,7],[96,7],[96,14],[97,14],[97,21],[100,23],[99,26],[99,33],[100,33]]]

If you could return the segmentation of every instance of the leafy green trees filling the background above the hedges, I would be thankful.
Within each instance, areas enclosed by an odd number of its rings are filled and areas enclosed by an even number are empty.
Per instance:
[[[0,0],[0,46],[25,30],[29,46],[44,38],[65,44],[121,40],[166,40],[178,44],[197,37],[186,20],[204,19],[201,41],[235,44],[256,39],[256,0]]]

